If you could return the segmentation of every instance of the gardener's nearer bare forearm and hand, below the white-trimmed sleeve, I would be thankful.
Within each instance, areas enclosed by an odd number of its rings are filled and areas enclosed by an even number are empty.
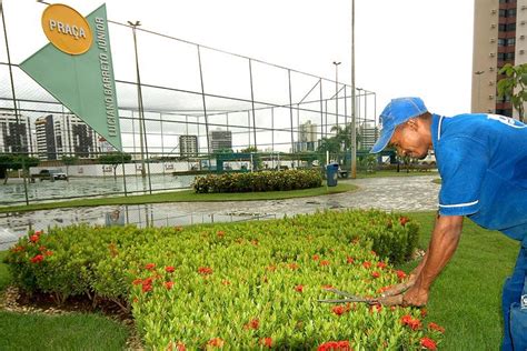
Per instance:
[[[424,265],[415,284],[402,297],[402,304],[424,305],[430,285],[456,252],[461,237],[463,215],[438,215]]]

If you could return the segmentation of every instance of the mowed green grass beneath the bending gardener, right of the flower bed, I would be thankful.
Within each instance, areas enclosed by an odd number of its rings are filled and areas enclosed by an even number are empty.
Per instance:
[[[421,223],[420,245],[430,240],[435,213],[408,213]],[[434,283],[427,321],[446,328],[441,350],[499,350],[501,285],[514,268],[519,243],[465,219],[459,247]],[[415,262],[401,267],[410,271]]]

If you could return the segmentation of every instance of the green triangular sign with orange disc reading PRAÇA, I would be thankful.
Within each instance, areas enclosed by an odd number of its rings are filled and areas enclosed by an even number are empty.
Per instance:
[[[50,43],[20,68],[122,151],[106,4],[86,20],[67,6],[51,4],[42,28]]]

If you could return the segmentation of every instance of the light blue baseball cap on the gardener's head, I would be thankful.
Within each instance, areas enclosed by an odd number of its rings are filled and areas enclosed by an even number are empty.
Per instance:
[[[369,152],[377,153],[382,151],[394,136],[397,126],[427,111],[425,102],[419,98],[392,99],[380,113],[380,124],[382,127],[380,138]]]

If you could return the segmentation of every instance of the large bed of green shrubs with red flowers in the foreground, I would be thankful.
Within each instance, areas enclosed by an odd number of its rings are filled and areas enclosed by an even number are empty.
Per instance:
[[[372,248],[391,242],[406,254],[414,237],[415,222],[377,211],[145,230],[70,227],[21,240],[8,262],[27,290],[130,304],[149,349],[434,348],[440,327],[424,325],[419,310],[317,302],[335,298],[328,287],[372,297],[404,279],[390,252]]]

